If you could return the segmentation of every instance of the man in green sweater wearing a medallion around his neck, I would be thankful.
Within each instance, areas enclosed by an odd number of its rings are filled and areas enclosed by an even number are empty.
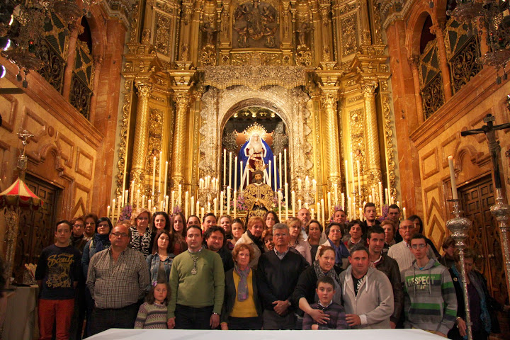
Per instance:
[[[169,329],[215,329],[225,294],[220,255],[202,248],[202,229],[186,232],[188,250],[177,255],[170,271]]]

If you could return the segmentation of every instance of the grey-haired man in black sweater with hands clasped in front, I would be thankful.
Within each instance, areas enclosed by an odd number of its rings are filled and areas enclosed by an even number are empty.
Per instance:
[[[287,225],[273,225],[273,242],[274,250],[261,255],[256,271],[264,309],[263,329],[302,329],[302,324],[296,324],[295,307],[291,300],[307,261],[300,254],[289,251]]]

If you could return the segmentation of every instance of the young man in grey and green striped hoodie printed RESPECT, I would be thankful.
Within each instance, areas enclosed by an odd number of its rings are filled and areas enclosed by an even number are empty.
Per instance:
[[[455,324],[457,297],[448,269],[427,256],[426,238],[414,234],[410,240],[416,260],[402,272],[405,328],[419,328],[443,336]]]

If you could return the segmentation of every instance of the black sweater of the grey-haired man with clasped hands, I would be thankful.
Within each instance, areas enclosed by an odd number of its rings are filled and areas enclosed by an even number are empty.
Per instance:
[[[289,300],[293,302],[293,292],[307,261],[300,254],[288,251],[283,259],[278,259],[274,251],[261,255],[256,276],[259,285],[259,296],[266,310],[273,310],[273,301]],[[293,303],[288,312],[295,311]]]

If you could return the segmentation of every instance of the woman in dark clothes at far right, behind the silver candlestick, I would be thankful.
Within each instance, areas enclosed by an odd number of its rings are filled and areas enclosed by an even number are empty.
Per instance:
[[[466,324],[458,250],[455,251],[453,257],[455,259],[455,266],[450,268],[450,275],[457,295],[457,320],[455,322],[456,326],[448,331],[448,338],[462,340],[465,339],[466,336]],[[467,296],[469,298],[471,311],[472,339],[486,340],[491,331],[499,332],[499,322],[497,322],[497,318],[494,315],[494,310],[490,309],[491,305],[493,305],[492,302],[495,300],[489,295],[487,280],[485,280],[482,273],[474,268],[476,259],[477,254],[473,249],[466,248],[464,250],[464,268],[466,273]]]

